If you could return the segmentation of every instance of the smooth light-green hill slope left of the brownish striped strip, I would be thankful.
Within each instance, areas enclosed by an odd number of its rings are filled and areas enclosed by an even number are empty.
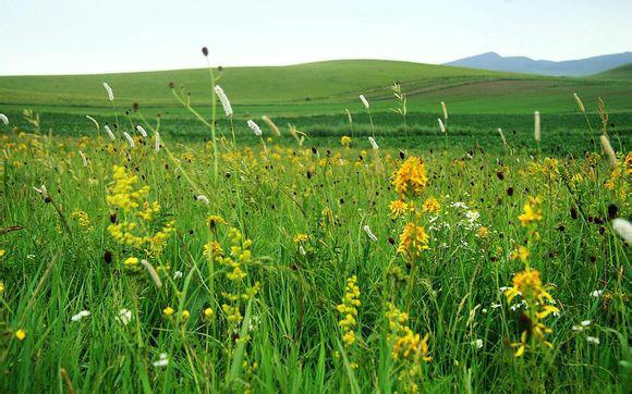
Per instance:
[[[388,88],[402,81],[410,89],[436,84],[458,84],[510,74],[382,60],[340,60],[290,66],[227,67],[220,85],[236,104],[348,101],[361,93]],[[119,103],[173,104],[167,87],[184,85],[194,102],[208,102],[206,69],[125,74],[4,76],[0,77],[0,103],[104,106],[102,82],[114,90]]]

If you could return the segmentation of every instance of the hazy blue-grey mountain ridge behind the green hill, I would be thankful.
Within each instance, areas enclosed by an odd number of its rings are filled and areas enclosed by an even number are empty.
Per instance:
[[[445,65],[526,74],[584,76],[600,73],[628,63],[632,63],[632,52],[603,54],[562,62],[533,60],[526,57],[501,57],[496,52],[487,52],[445,63]]]

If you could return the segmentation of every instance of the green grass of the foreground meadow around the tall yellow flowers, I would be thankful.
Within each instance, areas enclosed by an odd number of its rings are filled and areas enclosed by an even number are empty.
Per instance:
[[[415,383],[422,392],[625,392],[630,251],[610,226],[608,206],[618,217],[632,214],[622,194],[628,169],[610,189],[605,158],[560,158],[551,167],[534,143],[521,148],[509,133],[515,151],[470,149],[453,138],[441,136],[433,150],[402,147],[405,157],[424,159],[428,177],[406,200],[421,207],[434,197],[439,214],[391,219],[389,204],[400,198],[390,184],[402,162],[397,149],[360,158],[361,149],[321,139],[318,151],[288,141],[269,144],[266,155],[244,135],[240,144],[247,146],[221,145],[221,176],[214,180],[211,149],[199,143],[166,138],[156,152],[153,137],[131,149],[94,134],[2,135],[0,391],[61,392],[72,384],[77,392],[404,392]],[[113,165],[136,176],[134,189],[150,188],[138,208],[125,212],[106,200],[114,193]],[[42,184],[50,198],[33,188]],[[542,221],[523,227],[518,217],[536,195]],[[135,214],[144,201],[160,204],[151,220]],[[227,224],[209,227],[209,214]],[[155,234],[169,221],[175,231],[151,251],[114,239],[109,226],[126,221],[139,223],[136,234]],[[430,236],[418,258],[397,250],[408,222]],[[228,276],[233,267],[204,254],[210,241],[228,254],[232,226],[253,242],[243,282]],[[296,234],[307,242],[295,244]],[[520,358],[509,344],[520,340],[525,309],[512,310],[520,298],[508,301],[501,291],[525,267],[510,258],[518,245],[528,248],[530,267],[560,310],[543,320],[551,347],[534,341]],[[147,259],[162,287],[144,268],[125,267],[129,257]],[[356,342],[344,347],[336,306],[353,275]],[[255,282],[252,303],[231,301],[229,294]],[[595,291],[604,293],[594,297]],[[430,361],[393,358],[388,337],[402,335],[389,329],[385,301],[410,313],[413,333],[428,334]],[[231,324],[223,304],[236,305],[244,320]],[[174,313],[165,316],[167,307]],[[129,324],[117,320],[123,308]],[[211,319],[203,318],[205,308],[215,311]],[[92,315],[71,321],[82,310]],[[584,331],[572,329],[584,320],[591,321]],[[154,366],[162,353],[168,366]]]

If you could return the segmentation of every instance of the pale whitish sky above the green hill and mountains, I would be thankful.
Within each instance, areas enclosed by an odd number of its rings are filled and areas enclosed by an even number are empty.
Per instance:
[[[632,0],[0,0],[0,75],[632,50]]]

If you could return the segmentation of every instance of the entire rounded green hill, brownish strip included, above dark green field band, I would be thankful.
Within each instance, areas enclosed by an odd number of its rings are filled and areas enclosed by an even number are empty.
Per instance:
[[[612,84],[604,78],[573,79],[525,76],[484,70],[382,60],[341,60],[290,66],[227,67],[221,86],[242,113],[336,113],[349,107],[360,111],[358,94],[365,94],[375,111],[392,107],[389,86],[399,81],[409,96],[411,112],[434,112],[441,100],[461,113],[524,113],[574,110],[570,100],[579,93],[591,102],[605,97],[611,110],[632,110],[632,81]],[[114,89],[118,106],[177,111],[168,84],[191,91],[194,104],[208,104],[208,70],[179,70],[126,74],[0,77],[2,108],[34,107],[63,112],[85,112],[109,102],[101,86]],[[271,111],[270,111],[271,110]],[[4,109],[7,111],[7,109]],[[178,112],[178,111],[177,111]]]

